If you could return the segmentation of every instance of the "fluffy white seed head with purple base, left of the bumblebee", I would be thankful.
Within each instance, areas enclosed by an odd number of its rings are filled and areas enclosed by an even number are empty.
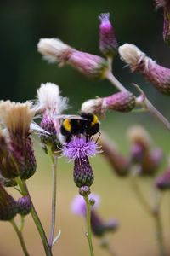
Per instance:
[[[59,86],[53,83],[41,84],[37,90],[37,109],[42,113],[41,127],[48,133],[43,133],[40,138],[42,148],[47,151],[47,145],[51,145],[53,151],[60,148],[59,143],[59,119],[57,115],[68,108],[68,99],[60,96]]]

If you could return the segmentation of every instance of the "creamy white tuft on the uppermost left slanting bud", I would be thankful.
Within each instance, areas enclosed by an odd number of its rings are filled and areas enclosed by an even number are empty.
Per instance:
[[[42,38],[37,44],[37,50],[47,61],[60,62],[62,55],[65,55],[71,47],[58,38]]]

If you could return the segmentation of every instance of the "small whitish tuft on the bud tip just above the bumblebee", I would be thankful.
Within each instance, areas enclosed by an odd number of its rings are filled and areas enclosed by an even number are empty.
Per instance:
[[[81,111],[85,113],[100,113],[103,99],[91,99],[82,103]]]

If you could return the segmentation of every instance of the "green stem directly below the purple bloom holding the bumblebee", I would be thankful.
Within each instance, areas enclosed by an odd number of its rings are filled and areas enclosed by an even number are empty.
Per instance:
[[[88,227],[88,246],[90,249],[90,255],[94,256],[94,248],[92,244],[92,232],[91,232],[91,210],[90,210],[90,203],[88,200],[88,195],[84,196],[84,200],[86,201],[86,218],[87,218],[87,227]]]

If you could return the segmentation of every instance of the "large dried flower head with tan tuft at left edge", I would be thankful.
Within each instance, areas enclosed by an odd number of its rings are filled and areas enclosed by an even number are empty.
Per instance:
[[[8,129],[9,152],[3,157],[3,164],[5,163],[8,172],[5,177],[20,175],[22,179],[26,179],[36,171],[37,164],[30,137],[31,120],[35,113],[36,108],[33,108],[31,102],[0,102],[0,120]]]

